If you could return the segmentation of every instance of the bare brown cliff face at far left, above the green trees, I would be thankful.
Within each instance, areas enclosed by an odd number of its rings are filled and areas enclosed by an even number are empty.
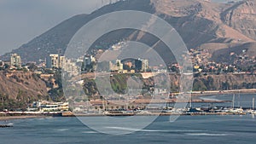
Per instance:
[[[13,100],[17,95],[26,100],[48,95],[45,82],[32,72],[0,72],[0,93]]]

